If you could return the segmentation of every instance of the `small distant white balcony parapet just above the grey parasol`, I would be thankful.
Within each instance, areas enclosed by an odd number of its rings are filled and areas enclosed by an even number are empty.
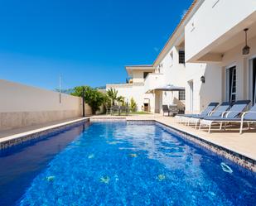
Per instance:
[[[144,88],[145,93],[152,93],[153,89],[162,87],[164,85],[164,75],[151,73],[147,74],[147,78],[145,79]]]

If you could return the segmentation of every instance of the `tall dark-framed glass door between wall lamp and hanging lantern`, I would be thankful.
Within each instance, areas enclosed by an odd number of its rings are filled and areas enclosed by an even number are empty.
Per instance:
[[[236,100],[236,67],[230,67],[226,71],[226,99],[230,103],[234,103]]]

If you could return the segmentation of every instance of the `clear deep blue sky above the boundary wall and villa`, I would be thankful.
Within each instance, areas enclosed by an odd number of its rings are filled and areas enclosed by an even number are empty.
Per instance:
[[[192,0],[0,1],[0,79],[45,89],[121,83],[152,64]]]

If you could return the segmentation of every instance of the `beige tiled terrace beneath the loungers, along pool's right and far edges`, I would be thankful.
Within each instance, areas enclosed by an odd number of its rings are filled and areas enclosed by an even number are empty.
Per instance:
[[[109,118],[114,116],[105,115],[94,117]],[[241,135],[239,135],[239,127],[232,127],[225,131],[218,130],[217,128],[219,127],[216,127],[216,129],[213,127],[212,132],[208,133],[206,128],[199,131],[193,126],[185,126],[184,124],[177,123],[173,117],[163,117],[160,114],[134,115],[125,118],[127,120],[155,120],[256,160],[256,129],[254,128],[251,128],[249,131],[244,129],[244,133]]]

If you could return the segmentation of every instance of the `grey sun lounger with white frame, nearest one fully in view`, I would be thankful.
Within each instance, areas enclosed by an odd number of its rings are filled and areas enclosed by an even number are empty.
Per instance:
[[[226,123],[228,122],[242,122],[242,118],[240,118],[239,115],[244,112],[244,109],[249,105],[249,103],[250,103],[250,100],[240,100],[235,102],[233,106],[229,109],[229,111],[227,111],[226,113],[223,113],[221,117],[215,117],[215,116],[205,117],[200,121],[199,129],[202,126],[209,127],[208,132],[210,133],[210,129],[213,123],[220,123],[220,130],[221,130],[223,123],[225,123],[225,126],[226,126]],[[243,119],[246,121],[246,120],[249,120],[249,117],[254,117],[254,115],[252,113],[249,113],[248,116],[245,116],[245,117],[246,119],[244,119],[244,117]],[[254,118],[252,118],[252,122],[254,122],[253,120]]]

